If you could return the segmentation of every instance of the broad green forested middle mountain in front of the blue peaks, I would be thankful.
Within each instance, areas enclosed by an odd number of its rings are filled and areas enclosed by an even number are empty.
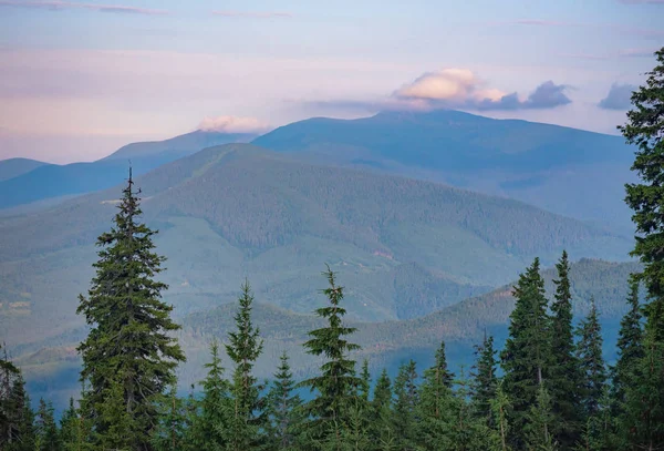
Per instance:
[[[156,243],[168,257],[165,280],[178,314],[231,300],[245,276],[266,301],[310,311],[312,268],[328,262],[354,287],[352,318],[411,318],[512,279],[536,255],[552,263],[567,248],[620,259],[630,247],[516,201],[309,165],[248,144],[178,160],[137,186],[145,219],[160,229]],[[76,295],[87,287],[93,244],[118,191],[0,219],[0,321],[8,335],[80,324]]]

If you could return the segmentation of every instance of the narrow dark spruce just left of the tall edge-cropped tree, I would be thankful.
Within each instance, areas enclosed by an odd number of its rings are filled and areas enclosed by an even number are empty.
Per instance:
[[[625,388],[635,385],[634,370],[643,358],[643,326],[641,325],[641,307],[639,303],[639,281],[630,280],[630,309],[620,322],[618,334],[618,361],[611,369],[613,414],[624,412]]]

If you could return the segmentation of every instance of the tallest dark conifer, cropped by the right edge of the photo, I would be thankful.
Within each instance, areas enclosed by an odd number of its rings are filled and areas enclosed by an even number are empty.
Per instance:
[[[629,144],[639,147],[632,171],[642,183],[625,185],[625,202],[634,212],[636,244],[631,253],[643,263],[637,279],[649,301],[644,356],[636,366],[634,386],[626,388],[626,414],[622,429],[634,449],[664,448],[664,48],[655,53],[657,65],[645,85],[632,93],[627,123],[619,126]]]

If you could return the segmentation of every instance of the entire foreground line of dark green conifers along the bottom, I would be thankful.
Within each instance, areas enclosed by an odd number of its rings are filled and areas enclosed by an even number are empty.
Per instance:
[[[639,146],[627,185],[637,226],[633,255],[644,264],[631,280],[618,360],[602,360],[602,336],[592,303],[574,328],[566,253],[557,264],[549,304],[539,260],[513,288],[509,337],[497,352],[491,337],[477,346],[468,375],[454,375],[445,342],[423,371],[404,362],[392,380],[375,380],[353,360],[359,346],[344,326],[343,287],[328,267],[325,327],[303,344],[322,365],[294,381],[283,355],[273,380],[260,382],[253,365],[262,352],[252,324],[253,297],[242,285],[236,328],[212,342],[199,391],[176,392],[185,361],[173,332],[173,307],[156,280],[164,258],[154,230],[139,223],[138,193],[127,187],[101,247],[96,275],[77,312],[90,326],[79,346],[82,391],[59,422],[52,406],[30,404],[21,371],[0,359],[2,450],[658,450],[664,449],[664,49],[660,65],[635,92],[635,109],[621,127]],[[639,303],[643,285],[647,303]],[[221,346],[229,362],[221,361]],[[228,366],[228,369],[226,368]],[[299,390],[311,393],[300,398]]]

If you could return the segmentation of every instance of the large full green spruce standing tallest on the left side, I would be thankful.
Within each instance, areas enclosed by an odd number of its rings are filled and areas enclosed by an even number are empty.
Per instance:
[[[156,232],[137,222],[142,212],[131,171],[118,209],[114,226],[97,238],[102,249],[93,265],[96,275],[76,310],[91,326],[79,346],[81,379],[91,383],[85,404],[96,437],[106,440],[104,434],[123,422],[131,426],[131,445],[149,450],[157,422],[155,401],[174,382],[174,370],[185,356],[169,336],[179,326],[170,319],[173,307],[160,300],[167,286],[154,280],[164,258],[153,252]],[[125,379],[117,380],[117,375]],[[118,397],[114,402],[116,411],[124,412],[122,419],[110,417],[106,396]]]

